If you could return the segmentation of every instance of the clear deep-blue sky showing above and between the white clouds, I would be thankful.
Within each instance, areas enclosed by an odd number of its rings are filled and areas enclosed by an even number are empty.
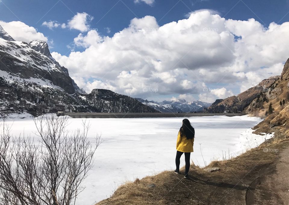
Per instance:
[[[5,4],[5,5],[4,5]],[[53,30],[42,26],[44,21],[57,20],[66,23],[77,12],[86,12],[94,17],[91,28],[98,32],[113,36],[129,25],[131,19],[154,16],[159,25],[183,19],[186,14],[199,9],[212,9],[227,19],[247,20],[255,18],[264,26],[271,22],[283,23],[289,21],[288,1],[250,1],[250,0],[156,0],[150,6],[145,2],[134,3],[133,0],[49,0],[49,1],[15,1],[2,0],[0,3],[0,18],[3,21],[22,21],[53,39],[54,48],[61,54],[67,54],[66,45],[73,42],[78,35],[77,30]],[[107,33],[106,28],[111,32]]]

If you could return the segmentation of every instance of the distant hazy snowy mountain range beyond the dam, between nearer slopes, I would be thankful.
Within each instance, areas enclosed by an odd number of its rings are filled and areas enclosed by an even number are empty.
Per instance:
[[[177,101],[148,101],[141,98],[136,98],[141,103],[153,107],[160,112],[173,112],[173,113],[191,113],[191,112],[200,112],[204,107],[209,107],[211,103],[202,102],[202,101],[192,101],[187,102],[185,99],[179,99]]]

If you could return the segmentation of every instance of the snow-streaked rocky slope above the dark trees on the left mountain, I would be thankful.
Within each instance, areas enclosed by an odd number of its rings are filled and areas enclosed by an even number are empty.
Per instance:
[[[69,94],[76,88],[73,81],[58,63],[21,41],[0,38],[0,70],[22,79],[36,78],[59,86]]]

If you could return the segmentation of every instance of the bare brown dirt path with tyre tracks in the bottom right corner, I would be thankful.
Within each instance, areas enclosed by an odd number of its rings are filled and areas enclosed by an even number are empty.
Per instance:
[[[215,184],[207,204],[289,205],[289,147],[278,152],[274,162],[235,175],[239,182],[231,175],[229,181]]]

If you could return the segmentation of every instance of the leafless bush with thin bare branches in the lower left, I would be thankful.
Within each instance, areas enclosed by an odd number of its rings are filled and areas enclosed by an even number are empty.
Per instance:
[[[5,126],[0,135],[0,204],[70,205],[81,182],[93,166],[93,155],[102,142],[87,138],[89,124],[82,130],[66,131],[67,117],[46,115],[34,119],[35,138],[12,137]]]

